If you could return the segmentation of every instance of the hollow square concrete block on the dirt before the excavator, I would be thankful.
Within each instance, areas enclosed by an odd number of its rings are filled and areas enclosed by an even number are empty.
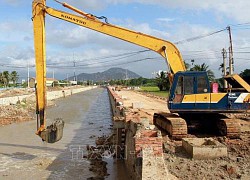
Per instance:
[[[227,147],[212,138],[183,138],[182,146],[193,159],[227,156]]]

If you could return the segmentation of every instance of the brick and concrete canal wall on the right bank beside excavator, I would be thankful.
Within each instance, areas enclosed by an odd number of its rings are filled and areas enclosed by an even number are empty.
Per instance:
[[[147,118],[124,107],[115,88],[107,89],[113,111],[116,156],[124,159],[131,179],[175,179],[164,162],[161,132]]]

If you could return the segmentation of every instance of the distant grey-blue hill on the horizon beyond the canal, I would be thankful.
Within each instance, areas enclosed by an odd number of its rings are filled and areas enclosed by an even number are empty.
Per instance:
[[[109,81],[109,80],[114,80],[114,79],[126,79],[126,74],[127,78],[133,79],[133,78],[139,78],[138,74],[122,69],[122,68],[110,68],[107,71],[104,72],[98,72],[98,73],[92,73],[92,74],[87,74],[87,73],[81,73],[77,75],[77,80],[78,81]],[[69,77],[69,80],[73,80],[74,77]]]

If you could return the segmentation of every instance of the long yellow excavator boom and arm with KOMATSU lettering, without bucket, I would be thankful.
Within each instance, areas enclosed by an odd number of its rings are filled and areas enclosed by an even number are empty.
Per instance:
[[[169,41],[165,41],[147,34],[115,26],[102,22],[94,15],[80,11],[66,3],[64,7],[79,15],[59,11],[46,6],[46,0],[34,0],[32,4],[34,44],[37,77],[37,113],[39,127],[37,134],[41,136],[46,132],[45,107],[46,107],[46,48],[45,48],[45,16],[46,14],[76,25],[92,29],[94,31],[119,38],[121,40],[142,46],[160,54],[168,64],[170,77],[179,71],[185,71],[185,64],[177,47]],[[170,80],[171,81],[171,80]],[[43,138],[43,137],[42,137]],[[45,140],[43,138],[43,140]],[[46,141],[46,140],[45,140]]]

